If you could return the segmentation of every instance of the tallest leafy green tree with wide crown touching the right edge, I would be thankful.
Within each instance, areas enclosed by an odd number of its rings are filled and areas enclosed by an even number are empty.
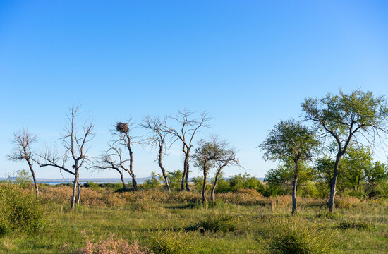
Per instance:
[[[360,142],[366,138],[373,145],[375,138],[387,134],[387,99],[375,97],[372,92],[355,90],[339,95],[327,94],[322,99],[310,97],[302,103],[303,117],[316,126],[325,137],[337,144],[332,188],[330,190],[329,211],[334,207],[339,162],[345,155],[351,140]]]

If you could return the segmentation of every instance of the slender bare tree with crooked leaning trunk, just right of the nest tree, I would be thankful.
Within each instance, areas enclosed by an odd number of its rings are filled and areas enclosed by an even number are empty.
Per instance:
[[[166,137],[169,134],[168,132],[164,131],[163,128],[163,126],[166,126],[166,121],[166,117],[163,120],[160,120],[159,117],[151,118],[150,116],[145,116],[143,123],[140,126],[150,130],[151,132],[150,137],[145,140],[145,143],[150,145],[152,148],[158,148],[157,163],[159,164],[160,170],[162,171],[162,176],[164,178],[167,191],[170,191],[169,179],[167,178],[166,170],[162,164],[162,157],[165,154],[166,149]]]

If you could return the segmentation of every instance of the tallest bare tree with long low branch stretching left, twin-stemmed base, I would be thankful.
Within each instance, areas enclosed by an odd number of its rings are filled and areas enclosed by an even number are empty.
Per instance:
[[[65,148],[63,154],[59,155],[56,150],[46,149],[39,155],[40,167],[56,167],[60,171],[66,171],[74,176],[71,209],[74,209],[75,201],[77,204],[80,202],[80,168],[85,167],[90,162],[90,157],[87,156],[89,148],[87,143],[90,143],[90,140],[95,137],[95,134],[92,133],[94,125],[88,120],[83,123],[83,131],[79,135],[75,120],[80,112],[82,112],[80,106],[69,109],[68,126],[63,128],[64,134],[61,136],[62,145]],[[71,167],[68,167],[69,161],[73,164]],[[77,187],[78,196],[76,197]]]

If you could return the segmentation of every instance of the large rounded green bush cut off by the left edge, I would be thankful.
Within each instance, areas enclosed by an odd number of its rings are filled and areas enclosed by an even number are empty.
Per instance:
[[[35,231],[43,222],[35,193],[13,183],[0,183],[0,235]]]

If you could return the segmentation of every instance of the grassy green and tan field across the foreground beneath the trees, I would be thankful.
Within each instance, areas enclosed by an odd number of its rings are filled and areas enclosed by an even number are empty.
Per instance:
[[[128,245],[140,246],[133,253],[388,253],[381,200],[339,197],[328,214],[327,200],[298,198],[291,217],[290,196],[253,190],[217,193],[214,204],[202,204],[195,192],[83,188],[71,211],[70,187],[41,189],[42,226],[0,236],[0,253],[129,253]]]

